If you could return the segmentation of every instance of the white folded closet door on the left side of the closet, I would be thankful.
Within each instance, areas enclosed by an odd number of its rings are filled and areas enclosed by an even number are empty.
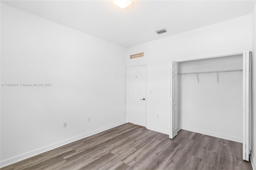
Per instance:
[[[174,138],[178,134],[178,64],[170,61],[170,103],[171,103],[171,128],[170,138]]]

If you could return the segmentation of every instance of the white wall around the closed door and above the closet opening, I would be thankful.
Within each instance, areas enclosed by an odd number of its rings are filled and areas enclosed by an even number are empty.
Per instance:
[[[252,15],[128,47],[126,67],[148,66],[147,127],[166,134],[170,131],[170,108],[164,101],[169,99],[169,60],[228,55],[246,49],[252,50]],[[131,54],[140,52],[144,57],[130,59]]]

